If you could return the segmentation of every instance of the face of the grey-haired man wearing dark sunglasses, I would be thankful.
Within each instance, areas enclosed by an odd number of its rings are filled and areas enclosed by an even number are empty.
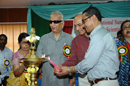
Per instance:
[[[61,22],[55,22],[61,21]],[[53,33],[60,33],[64,26],[64,21],[61,20],[61,15],[59,14],[52,14],[50,17],[50,27]]]

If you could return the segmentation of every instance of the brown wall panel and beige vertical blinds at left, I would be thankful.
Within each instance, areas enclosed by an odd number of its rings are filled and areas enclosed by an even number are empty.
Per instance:
[[[7,47],[13,52],[19,48],[18,36],[27,32],[28,8],[0,8],[0,34],[8,37]]]

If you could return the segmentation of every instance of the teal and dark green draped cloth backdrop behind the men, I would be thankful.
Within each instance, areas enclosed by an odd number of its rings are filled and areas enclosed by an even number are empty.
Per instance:
[[[50,20],[50,15],[54,11],[60,11],[64,15],[64,20],[68,20],[73,19],[77,13],[82,12],[89,6],[97,7],[101,11],[103,18],[130,17],[130,1],[98,4],[29,6],[27,16],[28,33],[32,27],[36,29],[36,35],[39,36],[50,32],[48,20]]]

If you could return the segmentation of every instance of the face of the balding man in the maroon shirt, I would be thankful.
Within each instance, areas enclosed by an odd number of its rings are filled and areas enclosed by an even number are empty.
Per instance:
[[[82,14],[79,14],[74,18],[74,26],[80,35],[84,35],[86,33],[86,30],[83,29],[84,25],[82,23]]]

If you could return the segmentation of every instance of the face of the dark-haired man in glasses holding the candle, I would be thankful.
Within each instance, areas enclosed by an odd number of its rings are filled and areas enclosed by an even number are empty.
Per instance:
[[[92,23],[92,16],[86,16],[86,13],[84,13],[82,16],[82,22],[85,25],[84,27],[86,28],[87,33],[91,33],[94,29]]]

